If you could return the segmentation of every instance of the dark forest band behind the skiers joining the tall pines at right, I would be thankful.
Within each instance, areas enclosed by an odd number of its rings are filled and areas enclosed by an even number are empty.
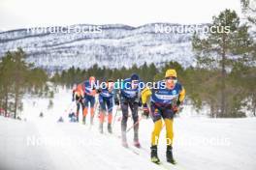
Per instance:
[[[167,69],[174,68],[188,99],[198,110],[208,105],[210,117],[245,117],[246,113],[256,116],[256,43],[248,32],[249,26],[240,24],[240,17],[231,10],[214,16],[209,26],[228,26],[230,31],[194,34],[196,67],[182,68],[172,61],[161,68],[146,63],[120,70],[94,65],[88,70],[73,67],[57,72],[51,80],[71,87],[90,75],[116,80],[137,72],[144,81],[156,81],[163,79]]]

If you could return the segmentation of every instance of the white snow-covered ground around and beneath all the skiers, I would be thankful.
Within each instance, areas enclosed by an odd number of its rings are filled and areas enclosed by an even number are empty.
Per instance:
[[[114,134],[98,132],[93,127],[69,123],[69,91],[60,90],[48,110],[48,99],[24,100],[25,121],[0,117],[0,170],[80,170],[80,169],[163,169],[149,161],[151,120],[142,120],[140,140],[143,149],[121,147],[120,122],[113,125]],[[45,117],[39,118],[44,112]],[[179,170],[254,170],[256,168],[256,119],[208,119],[191,117],[185,107],[175,120],[174,155]],[[113,111],[115,113],[115,111]],[[117,118],[120,118],[120,111]],[[185,116],[182,116],[185,115]],[[193,115],[193,114],[192,114]],[[63,116],[64,123],[56,123]],[[129,126],[132,120],[129,119]],[[132,146],[133,130],[128,133]],[[159,143],[159,157],[165,161],[165,130]]]

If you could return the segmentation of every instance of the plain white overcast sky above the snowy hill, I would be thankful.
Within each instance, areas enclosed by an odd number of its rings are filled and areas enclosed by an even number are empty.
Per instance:
[[[240,0],[0,0],[0,29],[77,23],[203,23]]]

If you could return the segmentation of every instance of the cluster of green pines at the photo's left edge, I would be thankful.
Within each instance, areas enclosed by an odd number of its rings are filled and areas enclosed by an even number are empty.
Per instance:
[[[21,48],[8,51],[0,59],[0,108],[5,116],[18,117],[24,95],[48,97],[48,74],[25,62]]]

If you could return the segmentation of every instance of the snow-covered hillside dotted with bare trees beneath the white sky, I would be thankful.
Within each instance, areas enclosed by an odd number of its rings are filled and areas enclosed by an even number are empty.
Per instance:
[[[158,24],[159,25],[159,24]],[[89,27],[91,25],[75,25]],[[177,24],[162,23],[164,28]],[[22,47],[28,61],[36,66],[68,69],[72,66],[89,68],[94,64],[108,68],[141,66],[177,61],[187,67],[194,63],[191,51],[192,33],[158,32],[156,24],[141,27],[101,25],[101,32],[49,33],[19,29],[0,33],[0,56],[8,50]],[[173,29],[175,30],[175,29]]]

